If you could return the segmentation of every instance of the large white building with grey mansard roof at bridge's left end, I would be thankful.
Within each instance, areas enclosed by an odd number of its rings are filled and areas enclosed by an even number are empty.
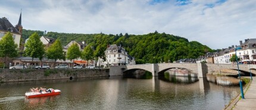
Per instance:
[[[117,45],[109,45],[108,48],[105,51],[106,55],[106,61],[102,61],[102,59],[99,59],[97,62],[103,67],[108,67],[110,65],[117,66],[117,65],[126,65],[126,64],[135,64],[135,58],[132,56],[129,56],[124,48]]]

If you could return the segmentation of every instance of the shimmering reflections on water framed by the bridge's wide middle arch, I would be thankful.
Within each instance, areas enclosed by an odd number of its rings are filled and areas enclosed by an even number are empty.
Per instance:
[[[197,74],[190,71],[167,71],[164,77],[159,77],[161,80],[169,81],[171,83],[195,83],[198,81]]]

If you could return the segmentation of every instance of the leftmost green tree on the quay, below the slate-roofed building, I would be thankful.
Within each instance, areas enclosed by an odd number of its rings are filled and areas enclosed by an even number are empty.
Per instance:
[[[7,57],[13,58],[18,56],[18,45],[15,44],[13,36],[10,32],[6,33],[0,40],[0,57],[4,57],[4,62]],[[5,63],[4,63],[5,64]]]

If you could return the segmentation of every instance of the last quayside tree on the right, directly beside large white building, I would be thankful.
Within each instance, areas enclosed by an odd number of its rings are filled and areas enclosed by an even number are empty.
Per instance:
[[[105,55],[105,47],[106,46],[97,46],[96,51],[94,52],[95,59],[101,58],[103,61],[106,61],[106,55]],[[101,66],[101,61],[99,61],[99,67]]]

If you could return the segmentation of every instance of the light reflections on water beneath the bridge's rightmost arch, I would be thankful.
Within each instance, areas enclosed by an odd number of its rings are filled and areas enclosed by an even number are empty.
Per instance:
[[[239,85],[239,79],[235,77],[207,74],[207,80],[210,81],[211,83],[216,83],[218,85],[223,85],[223,86]]]

